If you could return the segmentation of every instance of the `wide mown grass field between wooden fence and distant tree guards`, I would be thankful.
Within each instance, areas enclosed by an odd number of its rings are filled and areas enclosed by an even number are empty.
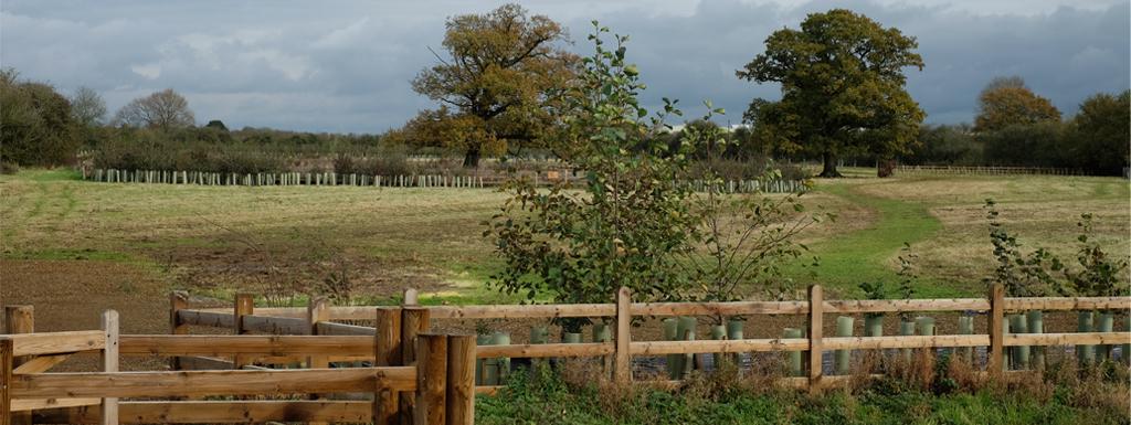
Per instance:
[[[982,294],[992,267],[986,198],[1000,202],[1027,248],[1071,260],[1077,218],[1093,212],[1105,245],[1122,255],[1131,250],[1125,180],[879,180],[864,177],[869,172],[819,181],[804,197],[838,219],[804,235],[820,267],[789,268],[798,283],[858,296],[861,281],[896,281],[896,257],[909,243],[920,296]],[[407,286],[455,302],[506,301],[484,287],[499,262],[482,236],[482,222],[503,199],[492,190],[107,184],[68,171],[24,171],[0,176],[0,297],[60,313],[152,304],[148,315],[163,311],[173,288],[285,298],[345,276],[359,302]]]

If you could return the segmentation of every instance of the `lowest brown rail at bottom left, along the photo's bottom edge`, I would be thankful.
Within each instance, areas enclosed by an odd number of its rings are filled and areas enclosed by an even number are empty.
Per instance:
[[[373,420],[371,401],[249,400],[249,401],[119,401],[121,424],[200,424]],[[98,424],[100,406],[51,409],[35,415],[42,424]]]

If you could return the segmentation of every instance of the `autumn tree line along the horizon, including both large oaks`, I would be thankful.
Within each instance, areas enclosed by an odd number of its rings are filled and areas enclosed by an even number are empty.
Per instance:
[[[104,120],[105,104],[94,90],[80,88],[68,98],[49,85],[20,81],[9,69],[0,79],[0,162],[62,164],[83,146],[128,140],[335,151],[380,142],[457,151],[465,167],[477,167],[483,157],[532,150],[562,157],[568,150],[561,144],[568,139],[564,118],[577,103],[570,96],[586,84],[584,58],[567,50],[564,27],[519,5],[456,16],[446,27],[441,49],[433,51],[435,63],[411,81],[438,107],[380,136],[228,131],[219,121],[196,127],[187,99],[172,89],[133,99]],[[777,84],[780,97],[751,101],[743,113],[748,128],[723,137],[717,151],[724,159],[817,159],[827,177],[839,176],[837,165],[846,158],[874,162],[880,176],[897,162],[1055,166],[1097,174],[1120,174],[1128,166],[1126,92],[1089,97],[1077,115],[1063,120],[1020,77],[995,78],[978,96],[973,125],[925,125],[925,112],[905,87],[905,72],[926,66],[914,36],[832,9],[810,14],[797,28],[774,32],[765,45],[735,76]],[[627,69],[633,72],[639,72],[634,66]],[[706,123],[685,129],[692,124]],[[676,142],[682,131],[656,129],[649,137]]]

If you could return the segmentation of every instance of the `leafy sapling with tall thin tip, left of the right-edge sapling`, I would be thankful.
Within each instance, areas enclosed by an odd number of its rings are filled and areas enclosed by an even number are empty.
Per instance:
[[[1017,236],[999,220],[1000,212],[993,199],[986,199],[985,210],[998,267],[983,281],[1002,284],[1007,296],[1068,295],[1068,288],[1053,275],[1064,269],[1061,260],[1043,248],[1024,254]]]

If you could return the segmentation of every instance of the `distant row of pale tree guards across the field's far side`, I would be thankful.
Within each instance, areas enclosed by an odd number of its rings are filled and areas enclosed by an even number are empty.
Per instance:
[[[374,188],[486,188],[498,181],[474,175],[402,174],[369,175],[338,173],[211,173],[198,171],[154,170],[83,170],[83,179],[105,183],[154,183],[195,185],[316,185],[316,187],[374,187]],[[543,180],[549,181],[549,180]],[[536,180],[537,182],[537,180]],[[791,193],[806,190],[800,180],[694,180],[689,184],[699,192],[714,190],[724,193]]]

